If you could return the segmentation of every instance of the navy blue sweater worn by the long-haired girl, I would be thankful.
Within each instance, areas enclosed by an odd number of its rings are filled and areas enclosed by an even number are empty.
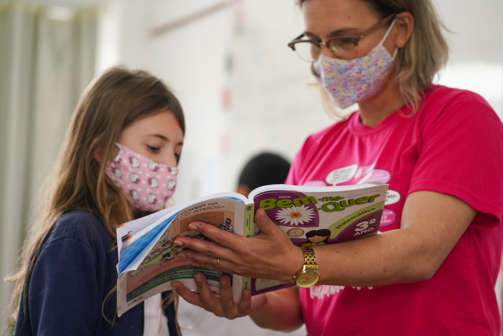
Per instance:
[[[57,220],[37,256],[26,306],[21,300],[15,336],[142,335],[143,303],[116,317],[113,326],[102,315],[103,300],[117,284],[113,244],[103,223],[87,211]],[[113,319],[117,297],[107,302]],[[174,305],[164,312],[171,336],[177,335]]]

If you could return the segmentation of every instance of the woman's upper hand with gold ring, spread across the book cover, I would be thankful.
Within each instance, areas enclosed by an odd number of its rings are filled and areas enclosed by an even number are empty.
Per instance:
[[[302,250],[267,217],[264,209],[257,210],[255,222],[262,231],[255,237],[237,236],[210,224],[192,222],[189,229],[213,241],[179,237],[175,244],[190,248],[179,256],[193,259],[194,266],[244,277],[293,283],[293,275],[304,263]]]

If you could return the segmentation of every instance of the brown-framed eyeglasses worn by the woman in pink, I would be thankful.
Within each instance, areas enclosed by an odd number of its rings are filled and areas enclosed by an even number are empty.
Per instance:
[[[323,46],[326,46],[333,53],[334,58],[353,59],[358,55],[358,42],[374,30],[390,24],[396,16],[397,14],[394,13],[385,17],[359,36],[335,36],[326,41],[321,41],[309,39],[301,34],[288,43],[288,46],[308,62],[318,59],[323,51]]]

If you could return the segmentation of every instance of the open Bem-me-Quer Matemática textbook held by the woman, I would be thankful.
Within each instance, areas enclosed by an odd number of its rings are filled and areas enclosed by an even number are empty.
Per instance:
[[[178,256],[184,249],[174,244],[178,237],[209,240],[188,229],[191,222],[252,237],[260,234],[254,223],[255,210],[264,208],[297,246],[339,243],[377,233],[387,189],[380,182],[333,187],[274,184],[253,190],[248,198],[234,192],[214,194],[121,224],[117,226],[118,315],[173,289],[170,283],[174,280],[196,290],[196,272],[202,272],[212,290],[219,291],[222,272],[194,267],[191,260]],[[276,280],[229,277],[236,299],[243,289],[257,295],[293,286]]]

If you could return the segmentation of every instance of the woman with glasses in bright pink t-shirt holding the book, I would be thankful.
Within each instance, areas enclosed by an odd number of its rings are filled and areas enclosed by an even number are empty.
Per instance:
[[[174,288],[217,316],[282,331],[305,323],[311,336],[499,335],[503,126],[480,96],[432,84],[448,48],[430,0],[300,6],[305,31],[288,45],[335,104],[359,111],[311,135],[286,183],[388,183],[382,233],[299,248],[263,209],[253,238],[193,223],[213,239],[176,242],[194,265],[299,288],[244,290],[240,302],[227,276],[218,295],[202,274],[198,293]]]

